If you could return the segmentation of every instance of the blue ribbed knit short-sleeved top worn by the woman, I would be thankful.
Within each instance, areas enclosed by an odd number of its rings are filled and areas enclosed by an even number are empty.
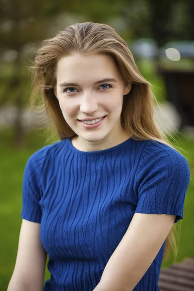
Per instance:
[[[35,152],[23,178],[23,219],[41,223],[51,278],[44,291],[93,291],[135,212],[183,218],[186,159],[132,138],[83,152],[64,139]],[[165,242],[134,291],[158,291]],[[130,276],[130,274],[129,274]]]

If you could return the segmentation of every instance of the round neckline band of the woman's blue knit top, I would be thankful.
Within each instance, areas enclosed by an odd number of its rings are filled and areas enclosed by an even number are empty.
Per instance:
[[[74,152],[77,152],[79,154],[82,154],[82,155],[96,155],[96,154],[108,153],[108,152],[120,149],[123,146],[126,146],[129,142],[131,142],[133,140],[132,137],[129,137],[129,139],[127,139],[125,142],[122,142],[121,144],[118,144],[117,146],[112,146],[112,147],[109,147],[106,149],[101,149],[101,150],[96,150],[96,151],[82,151],[82,150],[79,150],[72,145],[71,139],[72,139],[71,137],[65,138],[65,140],[69,144],[71,150],[73,150]]]

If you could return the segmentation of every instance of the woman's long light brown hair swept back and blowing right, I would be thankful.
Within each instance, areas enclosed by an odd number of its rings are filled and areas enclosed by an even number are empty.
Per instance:
[[[76,136],[65,122],[54,94],[57,62],[72,53],[112,56],[125,83],[132,83],[131,90],[123,101],[121,112],[123,128],[135,140],[156,140],[173,147],[154,121],[154,101],[158,106],[159,103],[154,97],[151,84],[139,72],[127,43],[109,25],[93,22],[68,26],[53,37],[44,40],[37,49],[35,61],[31,66],[33,73],[31,106],[35,104],[38,92],[42,105],[46,108],[61,140]],[[168,257],[171,248],[174,259],[177,257],[176,225],[174,224],[166,238],[163,259]]]

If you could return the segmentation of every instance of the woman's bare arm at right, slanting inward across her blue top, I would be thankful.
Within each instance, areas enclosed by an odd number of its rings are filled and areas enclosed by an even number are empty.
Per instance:
[[[132,291],[145,275],[176,215],[135,213],[94,291]]]

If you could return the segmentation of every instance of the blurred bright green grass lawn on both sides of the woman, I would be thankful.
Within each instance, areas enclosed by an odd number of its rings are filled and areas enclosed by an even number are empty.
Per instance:
[[[177,135],[176,139],[185,146],[190,157],[191,176],[194,181],[194,140]],[[36,130],[27,133],[26,144],[16,149],[12,146],[13,134],[10,130],[0,130],[0,290],[7,289],[8,282],[14,270],[18,246],[19,229],[21,226],[22,177],[25,164],[32,153],[46,145],[43,131]],[[184,219],[181,229],[180,246],[177,261],[194,257],[194,182],[191,181],[185,200]],[[47,260],[48,262],[48,260]],[[171,265],[172,256],[162,267]],[[49,278],[46,270],[45,280]]]

